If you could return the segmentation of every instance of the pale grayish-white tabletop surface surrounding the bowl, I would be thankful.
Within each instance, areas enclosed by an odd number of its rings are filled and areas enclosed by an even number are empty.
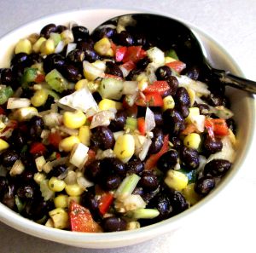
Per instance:
[[[256,1],[255,0],[163,0],[163,1],[67,1],[0,0],[0,37],[6,32],[47,14],[68,9],[143,8],[174,14],[205,30],[241,66],[247,78],[256,80]],[[224,191],[218,204],[199,221],[143,244],[113,250],[79,249],[55,244],[20,233],[0,223],[0,252],[82,253],[82,252],[255,252],[256,173],[253,156],[242,173]]]

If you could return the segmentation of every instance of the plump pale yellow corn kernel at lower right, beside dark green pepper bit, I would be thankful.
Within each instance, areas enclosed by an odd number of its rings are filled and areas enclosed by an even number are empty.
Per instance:
[[[168,170],[166,174],[165,183],[168,187],[181,191],[188,185],[188,177],[177,170]]]

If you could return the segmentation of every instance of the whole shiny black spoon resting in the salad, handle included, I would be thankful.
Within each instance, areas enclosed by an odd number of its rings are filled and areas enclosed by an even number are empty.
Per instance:
[[[236,77],[228,71],[213,68],[204,54],[203,45],[195,33],[180,21],[161,16],[159,14],[125,14],[105,21],[96,27],[93,36],[101,31],[102,26],[125,26],[127,31],[136,32],[147,38],[148,46],[152,43],[162,50],[170,48],[177,52],[180,60],[187,66],[197,66],[203,73],[202,80],[215,80],[218,83],[229,85],[237,89],[256,94],[256,82]]]

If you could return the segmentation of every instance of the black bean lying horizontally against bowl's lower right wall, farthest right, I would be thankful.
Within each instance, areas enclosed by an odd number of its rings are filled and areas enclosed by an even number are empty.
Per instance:
[[[205,165],[204,175],[223,176],[231,168],[231,163],[224,159],[213,159]]]

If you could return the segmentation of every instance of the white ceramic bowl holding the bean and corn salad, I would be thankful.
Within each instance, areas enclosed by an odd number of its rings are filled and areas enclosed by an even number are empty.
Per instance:
[[[61,25],[67,24],[69,21],[75,21],[79,25],[88,27],[91,31],[103,21],[108,20],[113,16],[135,12],[137,11],[131,9],[86,9],[54,14],[35,20],[10,32],[0,40],[0,67],[9,66],[9,60],[15,47],[15,43],[17,43],[21,37],[26,37],[32,32],[39,32],[43,26],[49,23]],[[168,16],[168,14],[166,15]],[[207,54],[212,62],[212,66],[230,70],[231,72],[242,76],[242,72],[236,62],[214,39],[212,39],[212,37],[209,37],[205,32],[201,32],[201,30],[195,26],[189,26],[198,33],[199,37],[201,37],[201,41],[207,49]],[[178,227],[189,226],[189,221],[199,218],[201,211],[212,204],[214,199],[217,197],[221,198],[221,194],[219,193],[224,191],[224,187],[227,187],[229,182],[232,181],[237,171],[243,169],[243,162],[247,157],[247,152],[253,141],[253,131],[255,127],[253,97],[245,92],[235,89],[228,89],[228,95],[238,125],[237,139],[239,146],[237,147],[236,162],[233,165],[232,170],[224,177],[218,187],[206,198],[203,198],[199,204],[196,204],[189,210],[186,210],[171,219],[161,221],[148,227],[118,233],[75,233],[44,227],[19,216],[3,204],[0,204],[0,221],[3,221],[10,227],[15,227],[24,233],[29,233],[41,239],[48,239],[61,244],[69,244],[84,248],[114,248],[137,244],[144,240],[152,239],[161,233],[173,232]],[[244,124],[245,122],[247,124]]]

